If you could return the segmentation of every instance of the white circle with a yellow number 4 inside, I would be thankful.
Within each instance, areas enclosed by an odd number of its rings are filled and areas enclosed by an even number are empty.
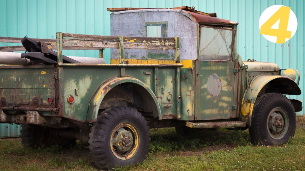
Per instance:
[[[264,10],[259,20],[260,34],[273,43],[285,43],[296,33],[296,15],[284,5],[272,5]]]

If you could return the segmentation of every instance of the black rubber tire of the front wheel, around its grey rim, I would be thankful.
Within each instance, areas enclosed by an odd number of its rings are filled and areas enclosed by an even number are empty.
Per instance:
[[[275,139],[268,131],[269,113],[276,108],[282,108],[287,113],[289,123],[286,133],[279,139]],[[249,134],[254,144],[260,145],[281,145],[289,141],[290,137],[294,136],[296,131],[296,113],[291,101],[284,95],[278,93],[267,93],[261,96],[254,105],[251,127],[249,127]]]

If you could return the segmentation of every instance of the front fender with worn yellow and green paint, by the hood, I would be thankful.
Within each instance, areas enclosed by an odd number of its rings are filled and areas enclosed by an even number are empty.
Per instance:
[[[299,86],[289,77],[282,75],[258,75],[248,85],[242,98],[240,121],[245,121],[249,127],[251,127],[252,111],[255,101],[263,88],[270,88],[267,92],[290,95],[301,94]]]

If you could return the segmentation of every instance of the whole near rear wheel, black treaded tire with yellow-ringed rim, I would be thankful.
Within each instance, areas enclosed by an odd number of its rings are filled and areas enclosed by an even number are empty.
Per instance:
[[[141,113],[127,106],[112,107],[91,127],[91,157],[101,169],[142,162],[148,153],[149,135]]]

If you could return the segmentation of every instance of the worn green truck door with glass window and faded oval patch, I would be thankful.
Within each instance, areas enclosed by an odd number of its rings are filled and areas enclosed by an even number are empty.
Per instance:
[[[235,30],[200,27],[196,61],[195,120],[237,117],[238,63],[232,61]]]

